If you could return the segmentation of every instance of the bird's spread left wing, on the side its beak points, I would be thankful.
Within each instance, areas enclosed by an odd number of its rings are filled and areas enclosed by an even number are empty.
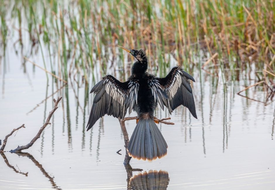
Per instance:
[[[115,118],[124,118],[127,109],[133,108],[137,101],[138,81],[128,80],[120,82],[112,75],[102,77],[91,90],[94,93],[94,101],[87,124],[87,131],[94,123],[105,114]]]

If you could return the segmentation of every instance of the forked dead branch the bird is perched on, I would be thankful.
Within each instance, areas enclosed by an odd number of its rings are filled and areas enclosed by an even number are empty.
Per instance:
[[[122,133],[123,133],[124,143],[125,143],[124,147],[125,147],[126,154],[125,154],[125,158],[124,158],[124,162],[123,162],[124,165],[129,164],[130,160],[132,158],[132,157],[129,156],[128,151],[127,151],[127,147],[128,147],[128,144],[129,144],[129,136],[128,136],[127,129],[125,127],[125,121],[137,120],[137,119],[138,119],[137,117],[127,117],[127,118],[124,118],[124,119],[118,119],[119,123],[120,123]],[[175,125],[172,122],[164,121],[164,120],[169,120],[169,119],[171,119],[171,118],[158,119],[158,118],[154,117],[154,121],[157,121],[159,123],[164,123],[164,124],[167,124],[167,125]]]

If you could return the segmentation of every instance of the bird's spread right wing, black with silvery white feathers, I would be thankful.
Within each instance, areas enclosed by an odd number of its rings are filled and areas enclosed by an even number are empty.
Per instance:
[[[168,99],[162,99],[170,114],[178,106],[183,105],[189,109],[194,118],[197,118],[194,97],[190,81],[194,78],[180,67],[174,67],[164,78],[157,78],[159,84],[168,95]]]

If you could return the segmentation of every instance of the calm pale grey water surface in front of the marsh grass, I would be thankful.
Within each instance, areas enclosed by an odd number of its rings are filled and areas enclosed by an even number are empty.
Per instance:
[[[159,124],[169,146],[167,156],[152,163],[132,159],[131,167],[143,173],[133,171],[128,180],[118,120],[106,116],[86,132],[92,96],[85,101],[85,85],[78,87],[72,80],[56,92],[59,87],[51,78],[47,82],[44,71],[35,68],[34,72],[26,63],[24,73],[12,46],[7,51],[6,72],[1,65],[0,139],[23,123],[26,128],[9,138],[6,150],[27,144],[43,125],[52,99],[63,96],[63,101],[51,126],[25,150],[29,154],[6,152],[4,159],[0,157],[0,189],[126,189],[144,185],[142,179],[161,183],[164,189],[275,189],[274,102],[264,106],[236,95],[244,88],[242,80],[229,80],[224,92],[221,81],[203,71],[200,78],[195,72],[198,119],[177,108],[171,116],[175,125]],[[39,56],[31,59],[42,64]],[[248,95],[258,100],[265,96],[253,89]],[[156,114],[169,117],[167,110]],[[135,121],[127,121],[126,127],[131,136]],[[116,153],[119,149],[122,155]]]

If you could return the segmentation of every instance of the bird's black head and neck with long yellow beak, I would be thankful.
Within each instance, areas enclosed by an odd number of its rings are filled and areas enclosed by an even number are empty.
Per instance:
[[[125,51],[129,52],[132,56],[137,59],[137,62],[134,63],[132,67],[132,73],[144,73],[147,70],[147,55],[143,49],[135,50],[135,49],[127,49],[125,47],[119,46]]]

